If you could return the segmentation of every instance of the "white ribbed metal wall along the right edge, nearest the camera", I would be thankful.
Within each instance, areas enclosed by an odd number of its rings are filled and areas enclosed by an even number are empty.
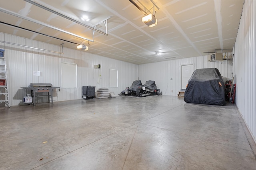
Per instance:
[[[236,105],[256,141],[256,1],[244,1],[234,47]]]

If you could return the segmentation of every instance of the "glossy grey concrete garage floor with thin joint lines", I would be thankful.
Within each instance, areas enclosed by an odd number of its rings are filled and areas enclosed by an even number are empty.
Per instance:
[[[235,105],[176,96],[0,107],[1,170],[256,170]]]

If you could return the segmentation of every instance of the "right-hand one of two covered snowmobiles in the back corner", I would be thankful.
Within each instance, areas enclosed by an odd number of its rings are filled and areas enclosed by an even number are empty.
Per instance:
[[[139,89],[139,92],[138,92],[139,97],[162,95],[162,92],[160,92],[160,89],[156,87],[156,83],[153,80],[146,81],[146,83],[141,87],[138,87],[138,89]]]

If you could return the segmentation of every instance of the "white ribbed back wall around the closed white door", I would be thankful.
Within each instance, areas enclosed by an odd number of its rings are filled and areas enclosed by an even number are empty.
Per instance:
[[[225,78],[232,78],[232,60],[208,62],[207,56],[178,59],[158,63],[140,64],[139,79],[144,84],[147,80],[154,80],[163,95],[177,96],[181,89],[181,66],[194,64],[198,68],[218,68]],[[173,78],[173,80],[170,80]]]

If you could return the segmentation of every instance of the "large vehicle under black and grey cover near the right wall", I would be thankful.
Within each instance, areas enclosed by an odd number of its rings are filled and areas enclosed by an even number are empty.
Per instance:
[[[224,82],[217,68],[196,69],[184,94],[184,101],[196,104],[226,105]]]

